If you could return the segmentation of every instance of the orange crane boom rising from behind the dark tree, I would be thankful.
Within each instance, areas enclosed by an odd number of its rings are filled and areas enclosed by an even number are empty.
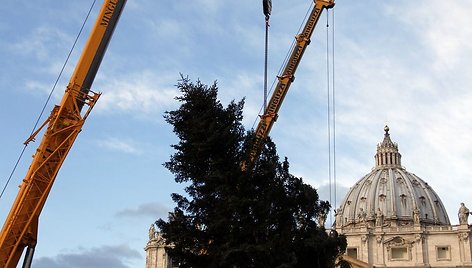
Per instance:
[[[269,135],[274,122],[277,120],[277,113],[282,106],[285,95],[295,79],[294,75],[298,64],[303,57],[306,47],[310,44],[311,35],[313,34],[323,9],[334,7],[334,0],[314,0],[314,2],[315,5],[305,23],[303,31],[295,37],[296,45],[293,47],[290,58],[283,69],[283,73],[281,76],[277,77],[279,81],[267,107],[265,107],[264,114],[261,115],[261,119],[255,131],[254,142],[249,150],[249,160],[242,164],[243,170],[247,170],[259,157],[264,141]]]

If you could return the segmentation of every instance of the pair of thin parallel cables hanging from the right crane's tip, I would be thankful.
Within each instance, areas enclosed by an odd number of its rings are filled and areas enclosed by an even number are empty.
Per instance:
[[[336,96],[335,96],[335,54],[334,54],[334,10],[332,13],[332,41],[331,60],[329,53],[329,10],[326,12],[326,78],[327,78],[327,124],[328,124],[328,180],[329,180],[329,203],[336,206]],[[330,73],[331,67],[331,73]],[[330,84],[332,82],[332,85]],[[333,183],[334,182],[334,183]],[[334,199],[334,200],[333,200]],[[334,202],[333,202],[334,201]],[[330,225],[333,224],[333,214],[330,213]]]

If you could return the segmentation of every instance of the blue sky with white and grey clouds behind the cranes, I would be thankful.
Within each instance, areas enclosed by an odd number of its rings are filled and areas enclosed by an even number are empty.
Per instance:
[[[0,5],[2,188],[92,2]],[[102,3],[41,122],[62,98]],[[312,1],[272,4],[269,86]],[[322,14],[270,133],[291,173],[339,203],[374,167],[388,125],[402,165],[428,182],[457,224],[460,202],[472,207],[471,11],[470,1],[447,8],[439,0],[336,1]],[[173,209],[171,193],[183,192],[162,165],[178,141],[163,115],[179,105],[180,74],[217,81],[224,105],[245,98],[243,122],[254,127],[264,31],[261,1],[128,0],[92,88],[103,95],[41,214],[33,267],[144,267],[150,224]],[[2,223],[38,143],[27,147],[0,200]]]

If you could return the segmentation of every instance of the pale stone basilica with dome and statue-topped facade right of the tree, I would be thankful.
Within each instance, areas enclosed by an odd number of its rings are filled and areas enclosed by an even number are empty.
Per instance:
[[[461,204],[451,225],[436,192],[401,165],[385,127],[375,167],[350,188],[336,210],[349,257],[368,267],[472,267],[469,210]]]

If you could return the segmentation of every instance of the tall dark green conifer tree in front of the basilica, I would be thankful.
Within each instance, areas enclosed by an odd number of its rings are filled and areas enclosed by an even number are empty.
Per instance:
[[[178,110],[166,121],[179,137],[165,166],[186,195],[167,221],[156,223],[180,267],[333,267],[346,248],[315,218],[329,210],[314,188],[289,173],[267,140],[250,172],[241,171],[252,133],[241,124],[244,101],[226,108],[218,88],[182,77]]]

